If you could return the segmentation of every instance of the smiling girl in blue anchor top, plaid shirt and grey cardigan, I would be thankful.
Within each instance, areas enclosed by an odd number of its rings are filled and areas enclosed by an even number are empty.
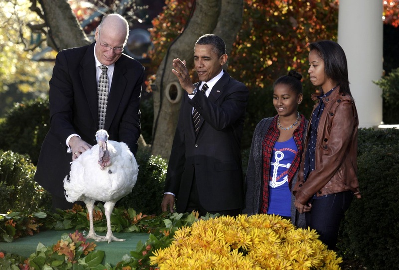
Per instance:
[[[275,214],[305,226],[295,209],[291,188],[298,177],[307,120],[298,112],[303,99],[302,75],[291,70],[273,85],[274,117],[256,126],[245,177],[244,214]]]

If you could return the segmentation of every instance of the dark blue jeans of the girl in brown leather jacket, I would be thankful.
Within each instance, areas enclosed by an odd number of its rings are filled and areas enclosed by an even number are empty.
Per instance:
[[[330,250],[335,249],[341,220],[352,199],[353,193],[344,191],[311,200],[312,210],[305,214],[306,227],[315,229]]]

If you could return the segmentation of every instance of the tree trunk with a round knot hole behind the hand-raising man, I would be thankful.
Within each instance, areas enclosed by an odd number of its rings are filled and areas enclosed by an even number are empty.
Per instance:
[[[227,51],[241,27],[242,0],[197,0],[196,9],[186,29],[169,48],[156,74],[152,154],[169,158],[184,90],[172,74],[172,60],[186,60],[189,70],[194,65],[194,44],[207,33],[224,39]],[[166,63],[166,64],[165,64]],[[196,77],[196,76],[193,76]],[[193,81],[195,82],[195,81]]]

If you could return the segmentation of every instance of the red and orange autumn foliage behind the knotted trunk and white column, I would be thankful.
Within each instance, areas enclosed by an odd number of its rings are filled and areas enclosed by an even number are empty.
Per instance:
[[[166,0],[150,29],[152,66],[182,33],[194,0]],[[398,0],[384,1],[385,23],[398,26]],[[248,88],[263,88],[290,69],[306,75],[309,42],[337,40],[339,0],[244,0],[243,24],[229,57],[229,73]]]

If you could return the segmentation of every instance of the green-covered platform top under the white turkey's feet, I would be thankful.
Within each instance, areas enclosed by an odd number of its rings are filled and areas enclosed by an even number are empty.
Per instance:
[[[0,242],[0,251],[29,257],[29,255],[36,251],[37,244],[42,243],[46,247],[52,246],[61,239],[62,234],[73,232],[74,230],[43,231],[33,236],[18,238],[11,243]],[[99,235],[105,235],[105,232],[99,233]],[[123,255],[130,254],[130,251],[136,250],[136,245],[140,240],[144,244],[148,240],[149,234],[114,233],[114,236],[125,239],[125,241],[111,242],[109,244],[107,242],[95,242],[97,245],[95,249],[105,252],[104,263],[110,263],[113,266],[122,260]],[[89,239],[88,241],[94,240]]]

